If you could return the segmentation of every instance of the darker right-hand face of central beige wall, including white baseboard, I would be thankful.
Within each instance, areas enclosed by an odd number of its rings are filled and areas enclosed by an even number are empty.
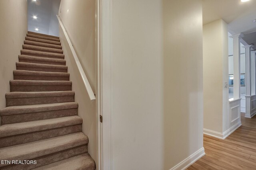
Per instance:
[[[164,0],[163,8],[164,169],[167,170],[184,168],[204,154],[202,2]]]

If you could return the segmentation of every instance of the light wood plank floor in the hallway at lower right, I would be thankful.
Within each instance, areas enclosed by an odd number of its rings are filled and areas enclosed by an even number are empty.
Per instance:
[[[242,126],[226,139],[204,135],[206,155],[187,170],[256,170],[256,116],[241,115]]]

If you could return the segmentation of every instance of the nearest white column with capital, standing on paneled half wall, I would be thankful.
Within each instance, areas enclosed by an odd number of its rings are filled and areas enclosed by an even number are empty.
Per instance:
[[[234,53],[234,100],[240,99],[240,38],[242,37],[244,37],[242,33],[230,36],[233,39]]]

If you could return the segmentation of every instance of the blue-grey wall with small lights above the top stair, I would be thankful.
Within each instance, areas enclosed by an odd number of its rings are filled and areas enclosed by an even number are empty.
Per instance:
[[[59,36],[56,14],[60,0],[27,0],[28,1],[28,31]],[[37,19],[34,19],[36,16]],[[35,29],[38,28],[38,31]]]

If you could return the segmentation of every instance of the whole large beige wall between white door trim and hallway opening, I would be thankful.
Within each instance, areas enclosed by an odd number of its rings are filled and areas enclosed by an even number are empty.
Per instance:
[[[112,0],[111,27],[112,169],[168,170],[203,147],[202,1]]]

